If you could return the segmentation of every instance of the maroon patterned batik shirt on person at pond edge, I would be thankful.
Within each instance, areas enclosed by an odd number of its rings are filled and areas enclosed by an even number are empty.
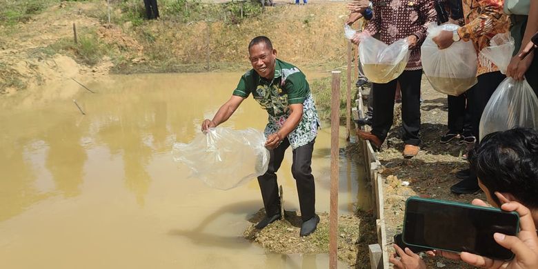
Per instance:
[[[417,46],[411,50],[406,70],[420,70],[420,46],[426,38],[428,23],[437,21],[433,0],[372,0],[374,17],[363,31],[370,36],[379,32],[388,45],[417,36]]]

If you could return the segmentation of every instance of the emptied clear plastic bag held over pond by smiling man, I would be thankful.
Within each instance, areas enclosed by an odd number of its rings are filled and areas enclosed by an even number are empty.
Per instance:
[[[210,128],[190,143],[175,143],[174,160],[212,188],[229,190],[263,175],[269,164],[263,132],[248,128]]]

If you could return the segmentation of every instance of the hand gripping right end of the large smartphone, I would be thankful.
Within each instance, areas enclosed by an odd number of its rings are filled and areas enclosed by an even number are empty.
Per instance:
[[[519,214],[521,230],[515,236],[495,232],[493,238],[499,245],[514,252],[515,257],[510,261],[500,261],[481,257],[469,252],[461,252],[461,260],[472,266],[481,268],[538,268],[538,236],[530,210],[516,201],[504,203],[505,211],[516,211]]]

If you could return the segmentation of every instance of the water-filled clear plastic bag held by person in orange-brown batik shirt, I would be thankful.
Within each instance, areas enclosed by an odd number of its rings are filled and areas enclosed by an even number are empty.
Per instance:
[[[437,23],[428,25],[428,36],[422,44],[421,60],[424,74],[432,88],[438,92],[458,96],[477,83],[477,52],[470,41],[454,42],[444,50],[439,50],[432,40],[441,30],[453,31],[455,24]]]

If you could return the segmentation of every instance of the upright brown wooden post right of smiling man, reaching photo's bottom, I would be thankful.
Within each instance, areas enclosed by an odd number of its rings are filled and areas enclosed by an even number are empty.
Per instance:
[[[340,71],[332,71],[330,110],[330,210],[329,210],[329,268],[337,268],[338,260],[338,177],[339,177],[339,118]]]

